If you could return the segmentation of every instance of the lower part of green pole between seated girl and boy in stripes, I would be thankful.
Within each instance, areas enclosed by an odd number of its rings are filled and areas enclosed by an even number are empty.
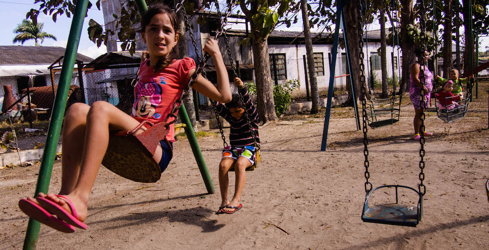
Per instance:
[[[182,106],[180,107],[178,115],[180,116],[180,120],[182,121],[182,123],[185,123],[186,125],[185,134],[187,135],[188,142],[190,143],[190,147],[192,148],[192,152],[194,152],[194,157],[195,160],[197,161],[197,165],[199,166],[200,175],[202,175],[202,179],[204,180],[205,188],[207,188],[207,192],[209,194],[213,194],[215,192],[214,184],[212,183],[212,179],[209,175],[209,171],[207,170],[207,166],[205,165],[202,152],[200,152],[199,143],[197,143],[197,137],[195,137],[194,129],[192,128],[192,123],[188,118],[187,110],[185,109],[183,103]]]

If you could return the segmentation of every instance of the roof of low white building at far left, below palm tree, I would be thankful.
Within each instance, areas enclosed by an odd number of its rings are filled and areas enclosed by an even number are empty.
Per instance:
[[[21,45],[0,46],[0,65],[50,65],[64,55],[64,47]],[[77,53],[76,59],[84,63],[93,60],[80,53]]]

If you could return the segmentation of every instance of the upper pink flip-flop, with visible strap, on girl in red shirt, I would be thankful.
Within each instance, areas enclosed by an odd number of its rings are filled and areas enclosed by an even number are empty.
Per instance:
[[[67,201],[67,204],[71,208],[71,212],[73,214],[70,214],[63,207],[46,198],[37,197],[36,200],[39,202],[39,204],[45,207],[47,211],[50,211],[52,214],[56,215],[58,219],[65,221],[69,225],[79,227],[82,229],[87,229],[87,225],[81,222],[80,220],[78,220],[78,214],[76,213],[75,206],[73,205],[73,203],[71,203],[71,201],[64,195],[56,195],[56,196],[62,197]]]

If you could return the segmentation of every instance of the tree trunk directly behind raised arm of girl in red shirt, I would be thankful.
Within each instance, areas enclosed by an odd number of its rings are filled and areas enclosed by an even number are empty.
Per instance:
[[[182,12],[180,11],[178,12],[178,20],[180,20],[180,34],[182,34],[178,40],[178,58],[183,58],[184,56],[188,56],[188,47],[187,33],[185,32],[185,22],[182,16]],[[190,90],[189,93],[183,97],[183,104],[185,105],[185,109],[187,110],[188,118],[190,119],[190,123],[192,124],[194,132],[198,132],[199,129],[197,128],[197,118],[195,117],[194,96],[192,90]]]

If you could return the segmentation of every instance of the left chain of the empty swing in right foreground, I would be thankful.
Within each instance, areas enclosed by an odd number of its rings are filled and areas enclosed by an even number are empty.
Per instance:
[[[365,65],[364,65],[364,58],[365,55],[363,54],[363,16],[362,16],[362,11],[363,11],[363,4],[362,1],[360,0],[359,7],[357,8],[358,11],[358,47],[359,47],[359,60],[360,60],[360,82],[362,84],[362,120],[363,120],[363,155],[365,156],[365,161],[364,161],[364,166],[365,166],[365,193],[368,195],[370,191],[372,191],[372,183],[368,181],[370,178],[370,172],[368,171],[368,168],[370,166],[370,162],[368,160],[368,138],[367,138],[367,90],[365,89]]]

